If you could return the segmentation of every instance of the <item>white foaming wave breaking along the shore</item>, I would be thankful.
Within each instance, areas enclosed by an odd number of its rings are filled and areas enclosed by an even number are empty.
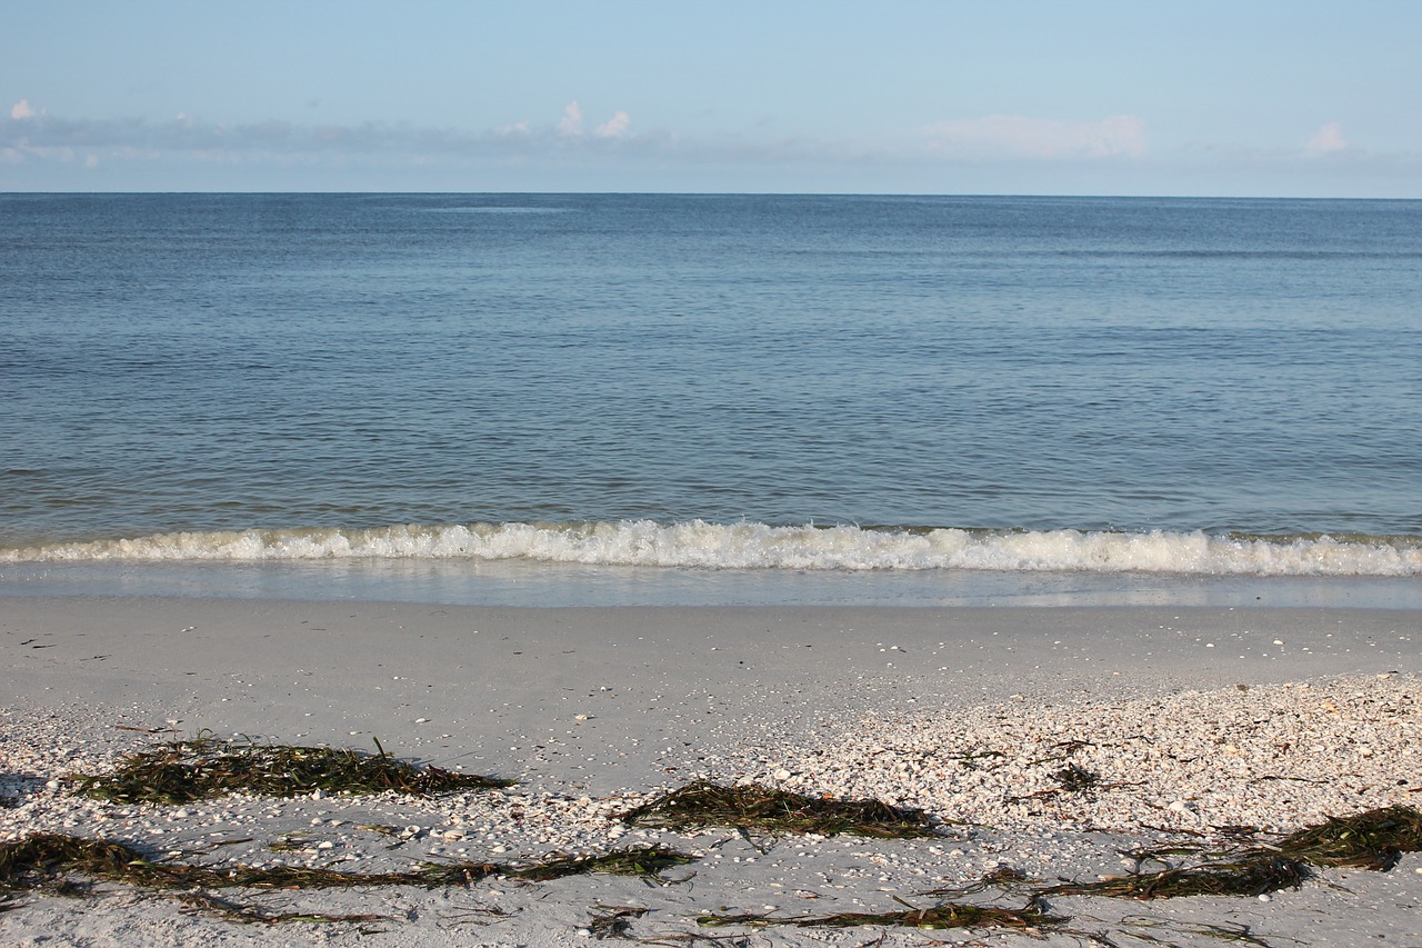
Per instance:
[[[0,562],[525,559],[707,569],[1422,575],[1422,537],[884,530],[700,520],[154,534],[0,549]]]

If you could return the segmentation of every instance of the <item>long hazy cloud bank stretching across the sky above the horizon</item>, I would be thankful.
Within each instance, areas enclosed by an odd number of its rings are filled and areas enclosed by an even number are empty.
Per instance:
[[[454,128],[410,122],[223,124],[183,112],[162,120],[67,118],[21,100],[9,114],[0,111],[0,184],[78,182],[82,179],[64,175],[78,174],[84,165],[97,165],[94,174],[105,182],[154,181],[181,172],[218,186],[240,175],[276,181],[284,174],[310,174],[314,181],[326,172],[346,175],[341,181],[400,182],[415,168],[419,174],[439,169],[442,181],[454,185],[596,179],[611,189],[643,186],[651,179],[648,169],[663,175],[657,181],[691,189],[735,182],[727,186],[873,191],[889,182],[892,189],[920,191],[1025,194],[1052,188],[1105,194],[1106,188],[1136,194],[1160,192],[1159,182],[1175,174],[1187,184],[1169,186],[1182,192],[1190,192],[1189,182],[1227,182],[1230,175],[1243,175],[1264,182],[1256,185],[1261,194],[1273,194],[1281,186],[1276,182],[1288,175],[1330,175],[1318,178],[1325,184],[1308,186],[1401,196],[1413,195],[1415,182],[1422,181],[1422,154],[1368,152],[1348,145],[1338,124],[1324,125],[1307,147],[1295,138],[1270,151],[1214,147],[1190,152],[1148,151],[1142,122],[1130,115],[1085,122],[990,115],[875,138],[772,131],[681,135],[634,128],[621,110],[597,124],[584,118],[577,101],[567,102],[560,115],[555,111],[502,127]]]

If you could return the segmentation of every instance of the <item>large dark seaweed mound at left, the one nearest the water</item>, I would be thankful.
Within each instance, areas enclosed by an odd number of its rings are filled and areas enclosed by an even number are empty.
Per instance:
[[[73,774],[78,793],[117,803],[192,803],[228,793],[272,797],[331,793],[435,796],[512,786],[512,780],[418,767],[378,753],[344,747],[220,740],[202,732],[128,754],[107,774]],[[319,794],[319,796],[316,796]]]

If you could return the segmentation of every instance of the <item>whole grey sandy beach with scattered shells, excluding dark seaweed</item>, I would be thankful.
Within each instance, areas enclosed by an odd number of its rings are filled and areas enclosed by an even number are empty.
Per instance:
[[[603,934],[590,928],[599,914],[636,908],[626,934],[651,944],[880,944],[877,927],[695,918],[896,911],[1003,868],[1094,880],[1125,871],[1123,850],[1422,803],[1418,619],[6,596],[0,838],[102,836],[172,858],[361,873],[653,843],[698,858],[656,884],[492,878],[257,897],[272,910],[383,917],[364,925],[240,925],[119,885],[82,900],[27,894],[0,912],[0,942],[562,945]],[[67,774],[203,732],[371,752],[378,740],[400,757],[518,783],[431,800],[188,806],[71,793]],[[1066,764],[1096,786],[1064,790],[1055,777]],[[683,834],[616,818],[700,777],[879,797],[941,820],[941,838]],[[367,826],[404,836],[391,843]],[[300,846],[274,853],[279,840]],[[1011,890],[973,898],[1022,902]],[[1404,855],[1388,873],[1328,870],[1268,901],[1064,897],[1051,910],[1069,922],[889,929],[882,944],[1219,944],[1247,932],[1270,945],[1422,945],[1422,858]]]

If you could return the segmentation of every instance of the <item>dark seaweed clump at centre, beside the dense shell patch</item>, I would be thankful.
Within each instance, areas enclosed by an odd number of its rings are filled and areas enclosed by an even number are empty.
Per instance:
[[[690,783],[619,817],[627,826],[697,830],[722,826],[748,833],[816,833],[917,838],[939,836],[921,810],[879,800],[809,797],[758,784]]]

